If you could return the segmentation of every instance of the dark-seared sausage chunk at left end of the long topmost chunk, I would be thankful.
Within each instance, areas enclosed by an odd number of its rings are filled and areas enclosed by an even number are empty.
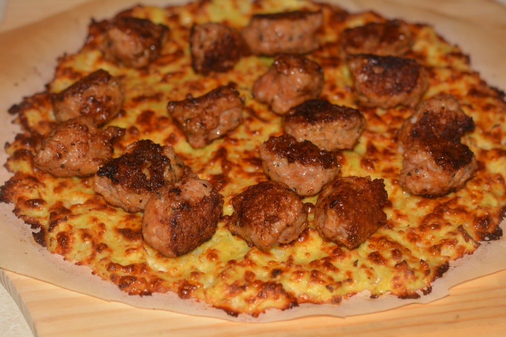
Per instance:
[[[242,35],[220,23],[194,25],[190,33],[190,51],[196,73],[225,72],[247,54]]]

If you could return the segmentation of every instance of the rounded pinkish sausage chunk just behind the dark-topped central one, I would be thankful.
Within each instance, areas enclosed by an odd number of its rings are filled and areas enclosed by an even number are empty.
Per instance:
[[[253,95],[272,111],[284,114],[293,106],[320,96],[323,70],[305,57],[278,55],[269,70],[253,85]]]

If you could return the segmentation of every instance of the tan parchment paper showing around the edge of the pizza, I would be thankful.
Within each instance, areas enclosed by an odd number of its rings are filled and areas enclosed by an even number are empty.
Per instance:
[[[4,68],[3,78],[9,79],[0,84],[0,111],[3,111],[1,113],[4,117],[12,120],[12,116],[8,116],[6,111],[12,104],[19,102],[22,96],[44,90],[45,83],[53,76],[58,56],[73,53],[82,46],[90,17],[97,20],[111,17],[119,10],[137,3],[139,2],[135,0],[94,1],[48,20],[0,35],[0,45],[14,46],[5,50],[0,59],[0,64]],[[178,3],[181,2],[171,2],[171,4]],[[499,27],[499,19],[506,16],[504,7],[492,2],[480,3],[480,11],[483,11],[484,15],[493,15],[497,20],[487,20],[487,26],[478,26],[475,20],[479,20],[480,16],[473,19],[471,25],[468,20],[470,17],[476,17],[476,12],[472,8],[478,6],[472,1],[467,1],[466,6],[459,3],[458,6],[454,4],[454,7],[451,7],[448,3],[448,6],[443,7],[440,12],[434,12],[429,6],[435,2],[412,1],[409,6],[405,6],[405,2],[402,2],[403,6],[399,5],[400,3],[401,0],[362,0],[340,2],[340,6],[351,12],[375,9],[379,14],[390,18],[433,23],[438,33],[448,41],[462,46],[464,52],[471,54],[473,68],[479,70],[491,85],[506,88],[506,69],[502,67],[501,59],[501,56],[506,55],[506,46],[497,43],[506,33],[505,28]],[[166,2],[151,1],[149,4],[166,5]],[[457,7],[463,18],[451,16],[453,13],[457,14]],[[468,10],[462,10],[462,7]],[[484,36],[487,38],[486,41],[489,41],[488,44],[484,43]],[[12,140],[17,131],[17,125],[9,124],[0,136],[0,141],[5,144]],[[0,161],[5,162],[6,159],[7,155],[2,151]],[[9,177],[10,174],[2,167],[0,171],[2,184]],[[0,204],[0,211],[3,219],[0,221],[0,230],[3,233],[0,236],[0,256],[2,256],[0,267],[3,269],[108,301],[235,321],[267,322],[323,314],[346,317],[388,310],[410,303],[428,303],[447,296],[448,289],[453,285],[506,269],[503,260],[497,258],[506,254],[506,240],[501,239],[484,242],[473,256],[467,256],[451,264],[451,270],[443,278],[438,279],[433,291],[417,300],[400,300],[389,296],[370,300],[367,293],[362,293],[340,306],[301,305],[284,312],[276,310],[259,318],[247,315],[232,317],[222,310],[209,308],[202,303],[181,300],[175,293],[157,293],[150,297],[129,296],[114,284],[101,281],[99,277],[92,275],[88,267],[63,261],[62,257],[53,255],[37,245],[32,239],[30,228],[12,214],[11,204]],[[504,224],[503,221],[502,228],[505,227]],[[460,265],[465,265],[465,268],[458,268]]]

